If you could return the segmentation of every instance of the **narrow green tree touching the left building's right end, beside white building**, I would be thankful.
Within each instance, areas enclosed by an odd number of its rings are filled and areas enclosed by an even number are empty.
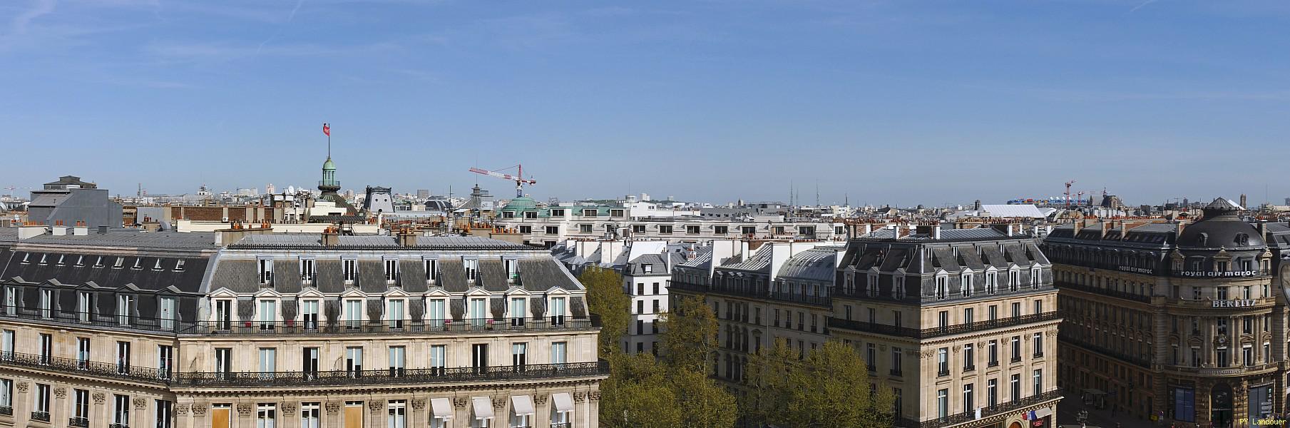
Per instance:
[[[587,309],[600,316],[600,355],[609,356],[620,349],[631,322],[632,298],[623,293],[623,276],[593,266],[578,281],[587,287]]]

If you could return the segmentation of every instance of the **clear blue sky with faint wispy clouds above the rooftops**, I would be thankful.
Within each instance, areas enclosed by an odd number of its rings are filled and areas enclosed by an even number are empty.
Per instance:
[[[0,187],[1290,196],[1285,1],[0,3]],[[497,195],[511,184],[486,177]],[[21,190],[19,190],[21,191]]]

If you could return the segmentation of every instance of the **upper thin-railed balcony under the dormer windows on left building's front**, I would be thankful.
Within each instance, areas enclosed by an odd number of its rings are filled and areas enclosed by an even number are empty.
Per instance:
[[[201,321],[179,334],[192,335],[335,335],[335,334],[454,334],[577,331],[599,329],[592,318],[466,318],[466,320],[379,320],[379,321]]]

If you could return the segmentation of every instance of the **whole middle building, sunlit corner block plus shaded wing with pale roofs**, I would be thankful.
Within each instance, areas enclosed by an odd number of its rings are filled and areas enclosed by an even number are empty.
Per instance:
[[[1054,427],[1057,290],[1018,224],[871,231],[846,246],[747,242],[673,269],[673,298],[720,320],[713,376],[742,391],[748,355],[854,347],[893,388],[897,427]],[[1038,425],[1036,425],[1038,423]]]

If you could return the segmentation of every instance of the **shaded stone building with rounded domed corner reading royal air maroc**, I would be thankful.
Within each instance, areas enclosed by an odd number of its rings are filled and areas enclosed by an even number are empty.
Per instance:
[[[1060,379],[1130,418],[1226,427],[1285,405],[1285,294],[1265,226],[1216,199],[1195,223],[1054,229]]]

